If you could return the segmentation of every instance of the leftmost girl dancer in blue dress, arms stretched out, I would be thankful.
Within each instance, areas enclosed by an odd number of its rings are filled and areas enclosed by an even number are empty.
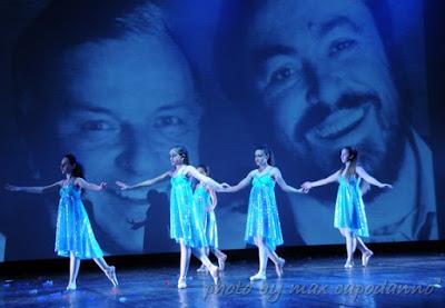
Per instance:
[[[56,227],[56,248],[59,256],[70,258],[69,282],[67,290],[76,290],[76,280],[79,274],[80,260],[93,259],[105,272],[111,284],[118,286],[116,269],[103,259],[91,229],[90,220],[85,210],[81,192],[82,189],[100,191],[107,183],[91,183],[85,180],[83,170],[76,157],[66,155],[60,162],[60,171],[65,179],[42,187],[19,187],[7,185],[10,191],[24,191],[42,193],[49,189],[60,187],[60,201]]]

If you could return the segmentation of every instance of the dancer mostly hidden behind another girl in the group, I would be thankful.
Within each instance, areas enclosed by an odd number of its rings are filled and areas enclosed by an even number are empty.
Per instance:
[[[206,165],[199,165],[196,169],[206,177],[210,176],[210,169]],[[218,200],[215,190],[200,181],[195,188],[194,198],[199,216],[202,218],[204,234],[207,240],[206,256],[208,257],[211,251],[218,259],[219,270],[224,270],[227,256],[218,249],[218,228],[215,217],[215,208]],[[204,264],[198,268],[198,271],[206,270],[207,268]]]

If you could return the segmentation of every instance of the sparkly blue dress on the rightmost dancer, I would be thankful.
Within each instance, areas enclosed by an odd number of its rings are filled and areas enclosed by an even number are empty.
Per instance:
[[[347,228],[359,237],[369,237],[360,193],[360,178],[340,176],[334,215],[335,228]]]

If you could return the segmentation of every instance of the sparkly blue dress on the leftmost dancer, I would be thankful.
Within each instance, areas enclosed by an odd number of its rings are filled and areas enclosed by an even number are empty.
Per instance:
[[[85,210],[81,190],[72,183],[60,188],[55,250],[62,257],[69,257],[70,251],[80,259],[103,257]]]

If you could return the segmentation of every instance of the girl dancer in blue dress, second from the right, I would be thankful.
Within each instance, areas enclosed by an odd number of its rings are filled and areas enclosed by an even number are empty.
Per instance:
[[[275,199],[275,183],[286,192],[303,192],[288,186],[278,168],[273,167],[273,153],[268,147],[258,147],[255,150],[257,169],[250,171],[245,179],[234,187],[226,188],[225,192],[235,192],[250,182],[253,183],[247,213],[245,241],[256,245],[259,255],[259,270],[250,280],[266,279],[267,260],[275,264],[278,277],[283,275],[285,259],[278,257],[275,249],[283,244],[281,227],[279,223],[277,202]]]

